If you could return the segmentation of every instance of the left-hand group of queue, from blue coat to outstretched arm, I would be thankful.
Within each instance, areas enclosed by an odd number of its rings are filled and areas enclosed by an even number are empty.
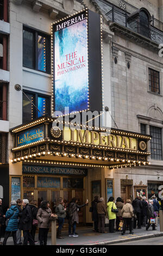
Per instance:
[[[55,214],[49,208],[49,202],[43,200],[37,207],[36,200],[18,199],[11,201],[10,208],[4,214],[2,208],[2,199],[0,199],[0,245],[6,245],[8,237],[12,234],[14,245],[35,245],[36,228],[39,228],[40,245],[47,245],[48,231],[51,227],[53,218],[58,220],[57,238],[62,239],[61,229],[68,218],[69,236],[77,237],[76,224],[79,222],[78,210],[88,204],[78,205],[78,199],[72,198],[70,204],[66,207],[62,198],[58,199],[55,206]],[[5,225],[3,242],[1,242],[2,229]],[[21,241],[21,232],[23,231],[23,243]]]

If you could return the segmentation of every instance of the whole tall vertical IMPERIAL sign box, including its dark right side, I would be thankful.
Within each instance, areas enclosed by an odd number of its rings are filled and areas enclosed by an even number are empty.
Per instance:
[[[99,15],[90,10],[53,23],[52,114],[102,110],[100,32]]]

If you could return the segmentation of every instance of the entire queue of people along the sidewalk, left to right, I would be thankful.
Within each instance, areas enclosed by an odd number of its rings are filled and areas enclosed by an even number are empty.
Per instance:
[[[35,245],[36,228],[39,228],[40,245],[47,245],[48,231],[51,227],[53,218],[58,220],[57,238],[63,239],[61,230],[68,219],[68,236],[77,237],[76,226],[79,223],[78,211],[89,202],[79,205],[77,198],[72,198],[67,205],[63,198],[59,198],[55,205],[55,213],[49,207],[49,202],[43,200],[37,207],[36,200],[28,201],[28,199],[18,199],[16,202],[11,201],[10,208],[4,214],[2,207],[2,199],[0,199],[0,244],[6,245],[8,237],[12,234],[14,245]],[[108,233],[105,231],[105,218],[109,219],[109,233],[121,231],[124,235],[126,230],[133,234],[135,229],[146,227],[146,230],[152,224],[152,229],[158,225],[159,208],[163,210],[163,199],[161,205],[155,196],[147,200],[146,197],[136,197],[133,202],[127,199],[126,202],[118,197],[116,202],[114,197],[110,197],[108,203],[104,203],[104,198],[97,196],[91,203],[89,211],[92,213],[92,221],[94,222],[94,230],[99,233]],[[116,221],[116,223],[115,223]],[[5,233],[3,242],[1,242],[2,229],[5,225]],[[23,232],[23,243],[21,241],[21,233]]]

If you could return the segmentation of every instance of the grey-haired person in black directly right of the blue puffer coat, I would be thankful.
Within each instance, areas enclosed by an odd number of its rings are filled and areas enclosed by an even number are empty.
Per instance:
[[[29,230],[32,229],[32,212],[29,206],[28,199],[23,199],[23,210],[21,217],[21,229],[23,230],[24,242],[23,245],[35,245],[35,242],[30,234]]]

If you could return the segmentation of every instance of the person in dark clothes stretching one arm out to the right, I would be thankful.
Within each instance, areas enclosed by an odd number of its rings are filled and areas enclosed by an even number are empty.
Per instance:
[[[76,226],[77,223],[79,223],[79,216],[78,216],[78,210],[87,205],[89,202],[86,200],[86,203],[83,205],[78,205],[78,199],[72,198],[70,204],[67,208],[67,215],[68,215],[68,222],[69,222],[69,228],[68,228],[68,236],[77,237],[78,234],[76,233]],[[72,232],[71,232],[72,230]]]

